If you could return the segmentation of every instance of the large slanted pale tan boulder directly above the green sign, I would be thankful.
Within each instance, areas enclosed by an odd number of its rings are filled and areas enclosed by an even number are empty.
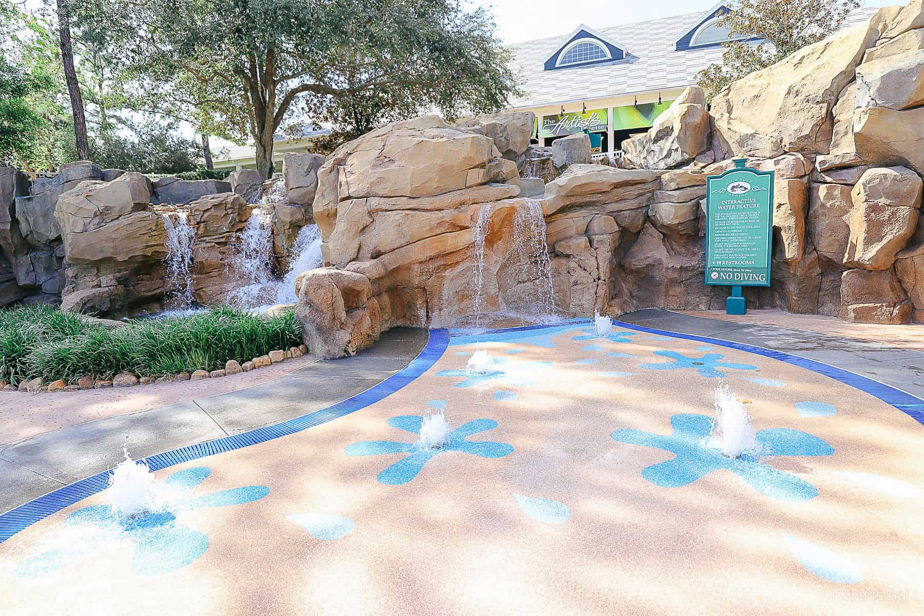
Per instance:
[[[719,92],[711,102],[717,157],[827,152],[836,97],[878,35],[869,22],[840,30]]]

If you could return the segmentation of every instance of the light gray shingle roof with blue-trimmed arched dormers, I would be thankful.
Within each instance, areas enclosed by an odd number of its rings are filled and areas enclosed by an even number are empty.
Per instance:
[[[869,19],[876,8],[859,8],[845,27]],[[595,66],[543,70],[546,58],[565,44],[567,35],[512,45],[513,67],[520,71],[524,95],[510,100],[511,109],[626,96],[684,88],[696,82],[706,66],[722,60],[720,46],[677,52],[674,44],[696,25],[702,13],[687,13],[634,24],[598,29],[626,46],[627,59]],[[588,24],[593,28],[592,24]]]

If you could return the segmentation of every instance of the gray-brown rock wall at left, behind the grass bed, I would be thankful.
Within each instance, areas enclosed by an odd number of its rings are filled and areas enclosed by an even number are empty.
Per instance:
[[[107,317],[163,309],[164,294],[173,290],[164,279],[164,215],[176,218],[177,211],[187,212],[196,229],[194,297],[205,305],[221,303],[239,284],[228,263],[232,240],[253,211],[249,201],[261,201],[269,211],[274,266],[286,272],[298,231],[313,222],[322,162],[314,154],[286,155],[280,189],[262,201],[259,175],[249,170],[235,172],[228,182],[151,181],[80,161],[30,182],[12,167],[0,167],[0,307],[60,303]],[[293,185],[291,198],[285,181]]]

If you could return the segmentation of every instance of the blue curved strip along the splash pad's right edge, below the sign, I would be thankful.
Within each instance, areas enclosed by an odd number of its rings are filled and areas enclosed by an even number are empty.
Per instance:
[[[888,405],[893,405],[895,408],[905,413],[908,417],[911,417],[919,424],[924,425],[924,400],[918,398],[916,395],[903,392],[902,390],[897,389],[892,385],[886,385],[883,382],[870,379],[869,377],[864,377],[861,374],[845,370],[844,368],[837,368],[836,366],[825,364],[821,361],[808,359],[808,357],[791,355],[789,353],[784,353],[783,351],[774,351],[773,349],[769,349],[763,346],[736,343],[729,340],[722,340],[721,338],[711,338],[709,336],[699,336],[695,333],[668,332],[666,330],[658,330],[652,327],[645,327],[644,325],[626,323],[621,320],[614,320],[614,325],[625,327],[629,330],[636,330],[638,332],[655,333],[671,336],[672,338],[684,338],[686,340],[695,340],[701,343],[724,346],[726,348],[732,348],[738,351],[753,353],[754,355],[770,357],[771,359],[778,359],[787,364],[798,366],[799,368],[806,368],[812,372],[818,372],[821,375],[830,377],[833,380],[839,380],[845,385],[850,385],[851,387],[856,388],[861,392],[869,393],[869,395],[879,398],[882,402]]]

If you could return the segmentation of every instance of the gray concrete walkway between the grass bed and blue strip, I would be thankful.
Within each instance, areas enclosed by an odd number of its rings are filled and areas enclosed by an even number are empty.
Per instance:
[[[314,361],[233,392],[87,421],[0,447],[0,513],[139,459],[299,417],[382,382],[419,355],[426,330],[399,328],[359,356]],[[65,394],[55,394],[65,395]]]

